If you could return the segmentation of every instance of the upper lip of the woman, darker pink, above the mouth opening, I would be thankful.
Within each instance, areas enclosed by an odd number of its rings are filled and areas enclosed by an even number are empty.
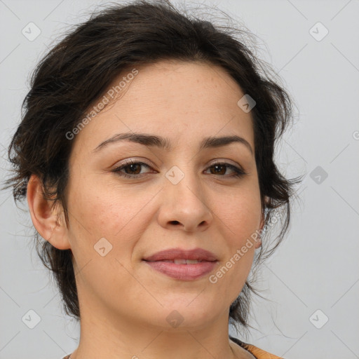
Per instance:
[[[154,255],[145,257],[144,260],[148,262],[155,262],[161,260],[173,260],[173,259],[197,259],[200,261],[217,261],[217,257],[212,252],[204,250],[203,248],[195,248],[194,250],[182,250],[181,248],[170,248],[168,250],[161,250]]]

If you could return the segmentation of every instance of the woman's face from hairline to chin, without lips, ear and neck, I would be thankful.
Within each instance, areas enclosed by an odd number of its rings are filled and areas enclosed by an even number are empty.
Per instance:
[[[237,104],[245,94],[222,68],[203,63],[137,69],[122,97],[74,138],[65,236],[81,315],[163,328],[173,316],[181,327],[228,319],[258,247],[246,243],[262,226],[252,119]],[[170,149],[115,140],[123,133],[163,137]],[[243,140],[201,147],[207,137],[233,135]],[[171,248],[203,248],[217,262],[203,276],[173,278],[144,261]],[[175,265],[194,264],[165,264]]]

